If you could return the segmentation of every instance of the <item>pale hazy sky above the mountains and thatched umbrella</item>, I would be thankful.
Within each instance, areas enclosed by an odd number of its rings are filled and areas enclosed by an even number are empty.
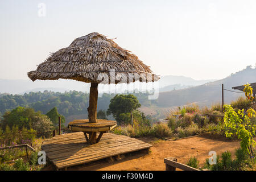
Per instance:
[[[1,0],[0,79],[28,79],[49,52],[90,32],[117,38],[159,75],[224,78],[256,63],[255,0]]]

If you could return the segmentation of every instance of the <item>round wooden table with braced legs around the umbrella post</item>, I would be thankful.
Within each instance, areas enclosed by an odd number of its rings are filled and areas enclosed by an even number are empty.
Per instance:
[[[97,119],[96,123],[89,123],[89,119],[77,119],[68,123],[68,128],[73,132],[84,132],[86,142],[90,144],[98,143],[102,135],[117,126],[116,121]],[[97,136],[97,132],[100,133]],[[89,134],[89,138],[87,137]]]

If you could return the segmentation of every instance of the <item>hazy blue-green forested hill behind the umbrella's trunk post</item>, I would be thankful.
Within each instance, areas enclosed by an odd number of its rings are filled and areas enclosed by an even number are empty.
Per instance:
[[[107,110],[111,98],[115,94],[102,94],[98,97],[98,110]],[[135,94],[143,105],[151,105],[147,100],[147,94]],[[70,91],[60,92],[30,92],[20,94],[0,94],[0,112],[4,114],[7,110],[15,109],[18,106],[32,107],[36,111],[46,114],[53,107],[57,107],[60,114],[65,117],[71,115],[88,114],[89,94],[84,92]]]

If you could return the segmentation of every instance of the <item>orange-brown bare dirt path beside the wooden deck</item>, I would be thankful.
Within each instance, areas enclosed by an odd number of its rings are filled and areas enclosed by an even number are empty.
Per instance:
[[[176,141],[155,140],[152,138],[140,138],[151,143],[150,152],[135,152],[130,155],[122,155],[118,161],[100,160],[84,166],[69,168],[69,170],[102,170],[102,171],[122,171],[122,170],[165,170],[163,159],[174,156],[178,162],[186,164],[191,156],[196,156],[200,161],[199,167],[204,166],[205,159],[209,158],[209,151],[216,151],[220,155],[224,151],[232,152],[240,147],[238,141],[230,141],[224,137],[214,137],[204,135],[179,139]]]

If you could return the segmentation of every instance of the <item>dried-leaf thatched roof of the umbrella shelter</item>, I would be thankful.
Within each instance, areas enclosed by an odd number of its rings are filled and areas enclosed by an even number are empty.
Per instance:
[[[36,71],[27,75],[32,81],[64,78],[101,84],[159,79],[136,55],[129,52],[112,39],[93,32],[75,39],[69,47],[53,52],[38,65]]]

